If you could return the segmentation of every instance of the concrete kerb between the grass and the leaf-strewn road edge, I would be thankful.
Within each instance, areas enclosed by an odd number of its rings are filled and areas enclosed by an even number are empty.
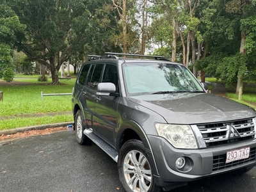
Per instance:
[[[17,132],[25,132],[25,131],[33,131],[33,130],[42,130],[47,128],[56,128],[56,127],[67,127],[67,125],[74,125],[74,122],[64,122],[58,124],[47,124],[47,125],[33,125],[29,127],[20,127],[16,129],[7,129],[0,131],[1,135],[8,135],[8,134],[16,134]]]

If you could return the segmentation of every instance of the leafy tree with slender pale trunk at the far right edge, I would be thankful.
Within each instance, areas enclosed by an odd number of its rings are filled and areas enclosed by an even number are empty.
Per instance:
[[[246,74],[246,70],[250,67],[251,63],[248,61],[248,54],[255,50],[255,1],[249,0],[231,0],[225,4],[225,12],[227,12],[232,18],[231,23],[235,23],[238,27],[238,35],[232,38],[239,38],[240,44],[236,47],[236,52],[231,54],[228,58],[223,60],[223,65],[225,63],[233,63],[233,65],[228,65],[232,68],[234,73],[229,73],[228,76],[232,76],[233,79],[236,77],[236,93],[242,95],[243,93],[243,79]],[[236,29],[236,28],[235,28]],[[234,58],[239,59],[239,61],[234,61]],[[255,58],[254,58],[255,59]],[[239,65],[237,65],[237,63]],[[223,68],[223,67],[222,67]],[[219,70],[220,71],[220,70]],[[231,77],[229,77],[230,79]],[[224,79],[223,79],[224,80]],[[224,80],[225,81],[225,80]],[[239,97],[241,98],[241,97]]]

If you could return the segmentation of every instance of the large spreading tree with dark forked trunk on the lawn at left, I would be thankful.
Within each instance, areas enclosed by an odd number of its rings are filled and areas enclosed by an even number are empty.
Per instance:
[[[72,54],[84,50],[93,1],[18,0],[12,8],[26,24],[15,45],[29,58],[51,71],[52,84],[59,84],[61,64]],[[47,62],[49,61],[49,62]]]

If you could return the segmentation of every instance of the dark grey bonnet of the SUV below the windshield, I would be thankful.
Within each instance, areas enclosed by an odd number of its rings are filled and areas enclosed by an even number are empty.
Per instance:
[[[129,99],[163,116],[168,124],[205,124],[255,116],[248,106],[207,93],[140,95]]]

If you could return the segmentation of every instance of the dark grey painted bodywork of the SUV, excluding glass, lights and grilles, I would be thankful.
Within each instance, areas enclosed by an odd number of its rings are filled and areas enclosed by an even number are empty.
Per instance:
[[[83,113],[84,127],[91,128],[102,140],[113,147],[118,154],[125,141],[130,139],[140,139],[147,149],[147,156],[154,174],[154,180],[158,186],[168,188],[168,186],[186,184],[191,180],[209,177],[212,175],[230,172],[237,169],[250,169],[255,166],[256,159],[239,166],[227,168],[219,172],[212,173],[212,163],[214,156],[225,156],[228,150],[250,147],[256,148],[256,140],[250,138],[249,141],[238,142],[220,147],[186,150],[174,148],[167,140],[158,136],[155,124],[181,124],[193,125],[194,134],[198,143],[204,142],[202,134],[196,127],[198,124],[216,124],[236,120],[248,120],[252,122],[255,118],[255,111],[248,106],[239,104],[232,100],[208,94],[202,84],[195,78],[194,82],[200,84],[200,93],[168,93],[168,94],[137,94],[132,95],[127,92],[122,71],[123,63],[169,63],[170,65],[180,65],[170,61],[156,60],[130,60],[102,59],[88,61],[84,65],[100,64],[116,65],[118,73],[119,92],[115,95],[106,96],[108,84],[100,84],[100,90],[104,93],[97,93],[88,86],[77,83],[74,86],[72,109],[74,116],[80,109]],[[102,72],[103,74],[104,72]],[[79,74],[80,76],[80,74]],[[78,76],[78,77],[79,77]],[[145,79],[147,81],[147,79]],[[203,91],[202,91],[203,90]],[[109,94],[113,89],[109,89]],[[136,95],[136,94],[135,94]],[[225,126],[225,125],[224,125]],[[255,131],[255,124],[254,124]],[[186,157],[188,168],[186,171],[177,170],[175,161],[178,157]]]

